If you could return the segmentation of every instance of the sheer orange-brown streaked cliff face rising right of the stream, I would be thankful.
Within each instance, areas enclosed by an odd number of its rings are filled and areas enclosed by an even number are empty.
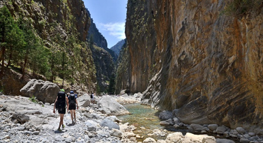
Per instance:
[[[263,13],[220,15],[228,2],[129,0],[129,90],[184,123],[263,128]]]

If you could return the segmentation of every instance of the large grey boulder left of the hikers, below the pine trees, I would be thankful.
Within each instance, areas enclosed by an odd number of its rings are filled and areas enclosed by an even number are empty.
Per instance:
[[[20,92],[23,96],[30,98],[35,96],[37,100],[43,103],[54,103],[59,92],[59,86],[52,82],[33,79],[20,89]]]

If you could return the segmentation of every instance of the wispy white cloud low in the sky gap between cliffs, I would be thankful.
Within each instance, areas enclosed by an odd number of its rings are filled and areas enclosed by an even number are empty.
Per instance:
[[[125,23],[117,22],[117,23],[99,23],[98,27],[101,27],[105,31],[109,31],[111,36],[119,38],[120,40],[125,39]]]

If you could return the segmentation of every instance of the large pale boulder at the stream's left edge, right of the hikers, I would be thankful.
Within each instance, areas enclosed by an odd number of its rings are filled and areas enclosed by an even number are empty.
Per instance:
[[[98,107],[100,107],[103,113],[107,115],[118,116],[121,114],[129,114],[128,110],[114,100],[112,96],[103,96],[100,98],[98,101]]]

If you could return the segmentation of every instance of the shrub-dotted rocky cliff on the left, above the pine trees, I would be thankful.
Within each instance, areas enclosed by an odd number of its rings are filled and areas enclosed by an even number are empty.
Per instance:
[[[15,20],[23,17],[24,20],[30,22],[36,36],[41,38],[43,45],[45,45],[47,49],[58,47],[58,49],[55,48],[57,51],[64,48],[67,51],[67,57],[72,57],[75,52],[73,51],[73,45],[70,44],[72,41],[69,41],[70,36],[75,36],[77,43],[86,41],[91,21],[84,8],[83,1],[3,0],[0,3],[0,7],[3,6],[7,6]],[[56,36],[59,36],[59,39],[57,39]],[[82,60],[78,63],[83,63],[83,66],[79,71],[73,73],[72,76],[75,78],[76,84],[82,84],[81,86],[89,86],[91,89],[96,89],[94,86],[96,82],[96,69],[91,57],[91,50],[87,47],[86,43],[83,43],[81,47],[83,47],[80,54]],[[29,64],[28,67],[31,68],[30,66]],[[7,76],[6,74],[5,76]],[[85,80],[80,82],[78,79]],[[24,83],[20,83],[24,86]],[[20,86],[18,84],[19,83],[17,83],[16,86]],[[3,86],[6,85],[3,84]],[[9,91],[5,91],[5,93],[8,93],[8,95],[19,95],[17,89],[12,93]]]

